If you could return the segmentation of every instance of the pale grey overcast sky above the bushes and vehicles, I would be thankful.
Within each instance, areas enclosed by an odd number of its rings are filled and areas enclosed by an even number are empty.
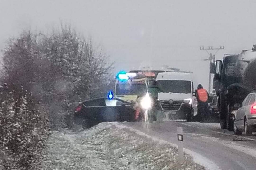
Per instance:
[[[217,58],[251,48],[255,7],[256,1],[234,0],[0,0],[0,48],[23,29],[49,32],[62,21],[101,44],[115,71],[167,64],[194,71],[207,87],[208,62],[200,60],[208,55],[199,46],[225,45]]]

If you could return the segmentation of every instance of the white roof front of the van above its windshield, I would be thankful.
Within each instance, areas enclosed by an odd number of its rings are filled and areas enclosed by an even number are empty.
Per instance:
[[[159,73],[156,77],[157,80],[189,80],[194,81],[193,73],[180,73],[180,72],[165,72]]]

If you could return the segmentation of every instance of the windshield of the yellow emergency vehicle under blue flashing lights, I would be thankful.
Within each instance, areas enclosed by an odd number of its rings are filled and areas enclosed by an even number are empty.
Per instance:
[[[146,84],[140,83],[118,83],[116,84],[116,95],[144,95],[147,92]]]

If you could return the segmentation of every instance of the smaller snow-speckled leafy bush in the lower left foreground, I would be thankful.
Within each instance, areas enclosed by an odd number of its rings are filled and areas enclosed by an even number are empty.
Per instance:
[[[5,88],[0,91],[0,168],[32,168],[40,163],[49,135],[48,119],[28,109],[33,104],[27,100],[27,95],[14,100],[15,92]]]

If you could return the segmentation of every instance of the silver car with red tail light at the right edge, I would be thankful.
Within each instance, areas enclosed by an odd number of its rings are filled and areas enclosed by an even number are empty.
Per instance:
[[[234,134],[241,135],[244,131],[246,135],[256,132],[256,91],[247,95],[242,106],[233,111],[234,114]]]

